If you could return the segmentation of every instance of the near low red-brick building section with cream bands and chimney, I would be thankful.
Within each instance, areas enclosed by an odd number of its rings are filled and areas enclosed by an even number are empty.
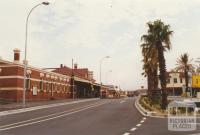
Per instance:
[[[14,61],[0,59],[0,99],[21,101],[23,95],[24,64],[20,50],[14,50]],[[26,100],[49,100],[71,97],[70,76],[28,66]]]

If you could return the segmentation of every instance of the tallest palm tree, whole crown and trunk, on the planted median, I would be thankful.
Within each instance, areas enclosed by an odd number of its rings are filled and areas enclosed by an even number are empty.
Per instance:
[[[159,79],[161,82],[162,91],[162,109],[167,107],[167,91],[166,91],[166,64],[164,52],[171,49],[170,37],[173,31],[170,30],[169,25],[165,25],[161,20],[148,22],[148,33],[143,35],[142,39],[149,46],[149,52],[155,50],[157,53],[157,62],[159,67]],[[151,53],[149,53],[151,54]]]

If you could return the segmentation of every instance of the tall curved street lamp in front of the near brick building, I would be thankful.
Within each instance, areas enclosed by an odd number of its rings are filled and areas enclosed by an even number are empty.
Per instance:
[[[39,7],[40,5],[49,5],[49,2],[42,2],[42,3],[39,3],[37,5],[35,5],[28,13],[28,16],[26,18],[26,34],[25,34],[25,55],[24,55],[24,90],[23,90],[23,107],[25,107],[26,105],[26,70],[27,70],[27,37],[28,37],[28,21],[29,21],[29,17],[32,13],[32,11]]]

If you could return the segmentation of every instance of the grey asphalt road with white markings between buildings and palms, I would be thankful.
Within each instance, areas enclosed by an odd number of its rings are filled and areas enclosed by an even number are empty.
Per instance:
[[[0,117],[0,135],[190,135],[167,119],[143,117],[134,98],[103,99]]]

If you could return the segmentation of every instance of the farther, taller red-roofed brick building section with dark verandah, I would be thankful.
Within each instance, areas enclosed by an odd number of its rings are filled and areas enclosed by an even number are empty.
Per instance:
[[[74,68],[60,65],[59,68],[54,68],[53,72],[71,76],[71,91],[74,91],[76,98],[95,98],[99,97],[100,85],[95,83],[93,72],[87,68],[78,68],[74,64]]]

